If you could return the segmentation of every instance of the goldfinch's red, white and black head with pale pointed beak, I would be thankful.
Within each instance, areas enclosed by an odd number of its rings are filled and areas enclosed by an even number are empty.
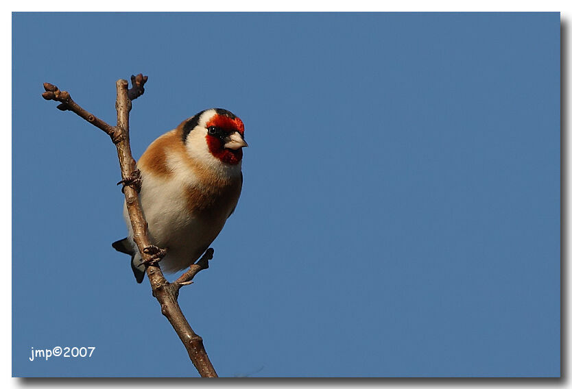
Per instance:
[[[191,158],[210,164],[240,164],[242,148],[248,146],[240,118],[222,108],[204,110],[187,119],[182,141]]]

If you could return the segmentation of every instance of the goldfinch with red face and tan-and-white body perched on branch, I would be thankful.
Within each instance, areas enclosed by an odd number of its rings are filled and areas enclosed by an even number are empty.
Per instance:
[[[242,190],[244,124],[228,110],[211,108],[185,119],[159,136],[141,155],[139,199],[150,242],[166,249],[159,266],[176,273],[191,266],[208,249],[233,214]],[[128,236],[112,243],[131,255],[136,281],[145,265],[133,240],[123,203]]]

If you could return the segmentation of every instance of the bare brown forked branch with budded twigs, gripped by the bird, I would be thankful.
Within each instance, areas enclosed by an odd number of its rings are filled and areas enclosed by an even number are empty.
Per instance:
[[[123,193],[125,194],[125,201],[131,226],[133,228],[133,239],[137,244],[143,262],[145,262],[145,271],[151,283],[153,296],[159,301],[161,312],[167,317],[169,323],[175,329],[184,347],[189,353],[191,361],[197,368],[202,377],[217,377],[215,368],[211,361],[208,360],[208,355],[204,350],[202,338],[195,334],[195,331],[189,325],[189,322],[184,318],[180,306],[177,302],[178,292],[185,282],[190,282],[191,279],[203,268],[208,268],[208,260],[213,258],[213,249],[208,249],[197,264],[191,265],[189,271],[184,273],[187,278],[182,282],[178,280],[173,284],[169,283],[163,272],[158,266],[158,262],[165,255],[165,249],[159,249],[151,244],[149,240],[149,231],[147,230],[147,222],[141,210],[141,203],[139,202],[139,171],[136,168],[135,160],[131,154],[131,147],[129,142],[129,112],[131,110],[131,101],[143,95],[145,92],[143,85],[147,81],[147,76],[141,74],[131,76],[132,88],[128,90],[128,81],[119,79],[115,83],[117,88],[117,100],[115,108],[117,109],[117,125],[111,126],[101,119],[90,114],[73,101],[68,92],[61,92],[57,86],[45,83],[45,92],[42,94],[44,99],[60,101],[58,109],[69,110],[78,114],[89,123],[102,129],[108,134],[117,147],[117,156],[119,158],[119,166],[121,167],[120,184],[123,184]],[[210,258],[208,256],[210,255]],[[207,258],[204,262],[201,262]],[[204,264],[206,263],[206,266]],[[195,268],[193,266],[199,266]],[[182,276],[182,277],[183,277]]]

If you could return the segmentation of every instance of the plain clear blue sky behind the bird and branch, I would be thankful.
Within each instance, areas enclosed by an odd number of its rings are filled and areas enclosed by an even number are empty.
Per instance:
[[[110,247],[115,147],[40,97],[114,123],[140,72],[136,158],[205,108],[246,125],[239,206],[179,297],[219,375],[560,375],[558,13],[13,23],[15,376],[197,375]],[[96,349],[27,359],[56,346]]]

